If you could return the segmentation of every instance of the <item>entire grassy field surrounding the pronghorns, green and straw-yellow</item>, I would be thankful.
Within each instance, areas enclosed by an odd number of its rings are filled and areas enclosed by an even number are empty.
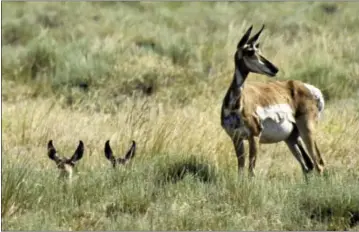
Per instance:
[[[3,230],[359,230],[359,3],[2,3]],[[285,144],[237,176],[220,126],[233,54],[262,23],[277,79],[319,87],[322,177]],[[251,74],[248,81],[270,81]],[[71,185],[46,155],[78,141]],[[103,147],[137,155],[116,170]],[[246,151],[247,147],[246,147]],[[246,164],[248,166],[248,164]]]

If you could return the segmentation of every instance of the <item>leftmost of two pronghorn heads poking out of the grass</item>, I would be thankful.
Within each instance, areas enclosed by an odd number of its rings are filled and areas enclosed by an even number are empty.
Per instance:
[[[84,143],[80,140],[79,145],[77,146],[76,151],[71,158],[58,157],[57,151],[50,140],[47,144],[47,154],[49,158],[55,161],[57,168],[60,169],[60,178],[67,177],[72,178],[73,169],[77,161],[79,161],[84,153]]]

